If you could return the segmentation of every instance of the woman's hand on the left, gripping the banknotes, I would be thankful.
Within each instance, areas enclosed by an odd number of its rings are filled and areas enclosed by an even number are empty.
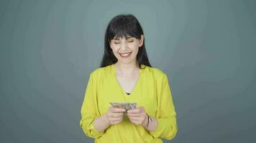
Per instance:
[[[122,122],[124,112],[125,109],[109,107],[109,112],[105,114],[105,117],[109,124],[118,124],[119,122]]]

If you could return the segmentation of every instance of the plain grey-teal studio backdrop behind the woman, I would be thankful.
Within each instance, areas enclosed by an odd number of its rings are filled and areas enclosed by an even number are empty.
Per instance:
[[[173,142],[256,142],[255,4],[1,0],[0,142],[93,142],[79,126],[88,75],[106,25],[129,13],[152,66],[168,74]]]

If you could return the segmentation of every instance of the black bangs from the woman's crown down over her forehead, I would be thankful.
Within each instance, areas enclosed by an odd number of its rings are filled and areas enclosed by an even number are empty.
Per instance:
[[[129,19],[113,19],[109,25],[108,41],[111,39],[120,39],[122,37],[132,36],[140,39],[140,32],[135,21]]]

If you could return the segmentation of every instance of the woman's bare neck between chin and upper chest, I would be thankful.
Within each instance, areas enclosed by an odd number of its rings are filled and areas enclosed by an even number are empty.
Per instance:
[[[119,63],[118,61],[114,64],[116,67],[116,74],[131,75],[136,74],[140,70],[137,62],[130,64]]]

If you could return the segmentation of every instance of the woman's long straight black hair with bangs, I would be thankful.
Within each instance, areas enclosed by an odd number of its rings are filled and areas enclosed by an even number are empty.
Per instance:
[[[109,45],[111,39],[114,39],[115,36],[116,38],[132,36],[136,39],[140,39],[142,34],[142,27],[136,17],[132,14],[121,14],[111,19],[106,28],[105,49],[104,56],[101,60],[101,67],[109,66],[117,61],[116,56],[114,56]],[[145,49],[145,39],[143,41],[143,45],[139,48],[136,59],[140,69],[142,69],[142,64],[151,67],[150,61],[147,58],[147,51]]]

